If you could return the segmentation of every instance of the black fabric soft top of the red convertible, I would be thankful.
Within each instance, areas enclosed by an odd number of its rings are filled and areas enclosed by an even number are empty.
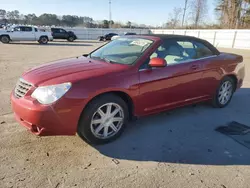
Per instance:
[[[169,40],[169,39],[197,41],[197,42],[200,42],[200,43],[204,44],[205,46],[207,46],[214,54],[216,54],[216,55],[220,54],[219,50],[217,48],[215,48],[210,42],[203,40],[203,39],[200,39],[200,38],[197,38],[197,37],[193,37],[193,36],[172,35],[172,34],[143,34],[142,36],[159,37],[163,41]]]

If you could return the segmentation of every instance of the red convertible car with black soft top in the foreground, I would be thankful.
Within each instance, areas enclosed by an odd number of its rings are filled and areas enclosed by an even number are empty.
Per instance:
[[[11,94],[32,133],[104,144],[133,117],[211,101],[227,106],[245,76],[240,55],[190,36],[136,35],[25,72]]]

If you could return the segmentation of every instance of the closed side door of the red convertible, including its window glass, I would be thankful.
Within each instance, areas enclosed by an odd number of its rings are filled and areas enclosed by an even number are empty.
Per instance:
[[[193,44],[183,41],[165,41],[148,59],[165,58],[164,68],[148,68],[145,64],[139,70],[141,114],[150,114],[170,109],[201,99],[202,68],[194,58]]]

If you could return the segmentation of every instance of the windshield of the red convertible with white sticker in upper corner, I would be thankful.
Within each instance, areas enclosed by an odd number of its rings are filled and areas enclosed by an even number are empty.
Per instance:
[[[90,58],[102,59],[110,63],[133,64],[153,43],[141,38],[119,38],[90,54]]]

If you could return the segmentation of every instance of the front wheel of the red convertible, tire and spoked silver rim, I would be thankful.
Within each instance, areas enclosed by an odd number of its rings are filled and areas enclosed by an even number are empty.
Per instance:
[[[107,116],[108,108],[111,109],[110,116]],[[98,111],[102,111],[102,113]],[[115,113],[115,111],[117,112]],[[123,133],[128,118],[128,107],[120,97],[113,94],[103,95],[87,105],[81,115],[77,132],[90,144],[106,144],[114,141]]]

